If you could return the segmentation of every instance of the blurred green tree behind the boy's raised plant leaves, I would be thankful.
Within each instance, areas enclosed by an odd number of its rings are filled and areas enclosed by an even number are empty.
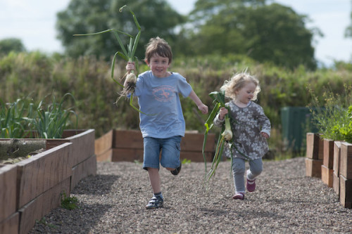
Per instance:
[[[71,0],[65,11],[57,15],[58,39],[62,41],[69,56],[96,55],[109,59],[115,51],[120,51],[113,33],[87,37],[73,37],[73,34],[87,34],[115,29],[137,34],[132,15],[128,11],[119,12],[127,5],[136,15],[142,27],[141,39],[136,56],[144,58],[144,45],[151,37],[163,37],[170,44],[175,41],[175,26],[184,17],[172,10],[165,0]],[[130,38],[120,35],[128,44]]]

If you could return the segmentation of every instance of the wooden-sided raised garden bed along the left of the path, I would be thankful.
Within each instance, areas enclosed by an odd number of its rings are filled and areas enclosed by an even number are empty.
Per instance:
[[[82,178],[95,175],[94,140],[94,129],[66,130],[63,138],[45,139],[43,152],[2,167],[0,186],[9,189],[6,193],[0,190],[0,202],[6,201],[4,208],[0,203],[0,209],[4,209],[0,216],[0,233],[28,233],[36,220],[60,206],[62,193],[69,196]]]

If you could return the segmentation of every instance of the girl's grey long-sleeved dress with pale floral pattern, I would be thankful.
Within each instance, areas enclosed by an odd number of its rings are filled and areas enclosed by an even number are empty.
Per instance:
[[[250,102],[245,108],[239,108],[230,101],[225,104],[230,108],[229,114],[232,119],[232,153],[234,157],[240,157],[245,160],[256,160],[268,152],[268,142],[261,136],[260,131],[270,136],[271,124],[268,117],[265,116],[264,110],[260,105]],[[215,126],[222,126],[224,119],[219,119],[219,114],[214,119]],[[242,154],[246,155],[244,157]],[[231,157],[229,144],[225,145],[225,156]]]

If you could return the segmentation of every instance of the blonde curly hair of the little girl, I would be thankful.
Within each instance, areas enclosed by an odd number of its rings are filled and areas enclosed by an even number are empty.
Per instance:
[[[258,93],[260,92],[259,81],[256,77],[253,77],[247,72],[241,72],[234,74],[230,80],[225,81],[224,85],[221,86],[220,90],[225,91],[225,96],[227,98],[236,99],[236,92],[244,87],[245,84],[253,82],[256,84],[256,90],[252,100],[257,100]]]

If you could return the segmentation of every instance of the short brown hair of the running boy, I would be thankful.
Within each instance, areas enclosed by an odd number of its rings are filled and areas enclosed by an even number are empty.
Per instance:
[[[144,60],[150,63],[151,57],[157,54],[158,56],[169,58],[169,64],[172,61],[172,51],[168,42],[160,37],[151,38],[149,43],[146,45],[146,58]]]

